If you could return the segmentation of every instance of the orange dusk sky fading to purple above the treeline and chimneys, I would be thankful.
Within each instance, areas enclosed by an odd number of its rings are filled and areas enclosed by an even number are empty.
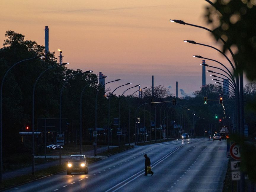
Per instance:
[[[154,86],[164,85],[176,96],[178,81],[178,97],[193,96],[202,86],[202,59],[192,55],[218,60],[229,69],[230,64],[214,49],[183,42],[221,49],[210,32],[169,20],[211,28],[204,18],[208,5],[204,0],[1,0],[0,47],[8,30],[44,46],[44,28],[49,26],[49,51],[57,57],[61,49],[68,68],[102,72],[109,76],[105,83],[121,79],[106,85],[112,91],[132,83],[116,95],[137,84],[151,87],[154,75]],[[206,64],[222,68],[212,61]],[[209,75],[206,84],[214,84]]]

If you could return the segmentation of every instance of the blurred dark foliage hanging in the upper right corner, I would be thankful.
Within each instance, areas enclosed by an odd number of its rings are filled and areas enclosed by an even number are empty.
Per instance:
[[[256,2],[254,0],[216,1],[206,8],[207,22],[214,28],[214,37],[222,37],[223,52],[236,47],[237,70],[244,70],[249,80],[256,78]]]

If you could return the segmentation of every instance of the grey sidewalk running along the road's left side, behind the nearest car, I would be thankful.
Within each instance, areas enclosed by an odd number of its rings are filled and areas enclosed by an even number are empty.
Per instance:
[[[109,148],[115,148],[115,147],[118,147],[118,146],[109,146]],[[108,146],[105,146],[105,147],[100,147],[100,148],[97,148],[97,153],[102,153],[102,152],[105,152],[105,151],[108,151]],[[90,158],[93,158],[94,157],[94,150],[91,150],[91,151],[86,151],[83,153],[86,157],[90,157]],[[45,156],[35,156],[35,158],[44,158]],[[100,159],[103,159],[105,156],[95,156],[95,158],[100,158]],[[46,156],[46,158],[59,158],[59,156]],[[65,163],[65,161],[67,161],[69,158],[69,155],[66,156],[66,155],[63,155],[61,156],[61,162],[62,164]],[[48,167],[52,167],[52,166],[55,166],[55,165],[59,165],[60,161],[59,160],[56,160],[56,161],[52,161],[52,162],[48,162],[48,163],[44,163],[44,164],[38,164],[38,165],[35,165],[35,171],[38,171],[38,170],[41,170],[41,169],[46,169]],[[21,169],[16,169],[16,170],[13,170],[13,171],[10,171],[10,172],[5,172],[3,173],[3,180],[7,180],[7,179],[11,179],[13,177],[17,177],[17,176],[22,176],[22,175],[28,175],[28,174],[31,174],[32,173],[32,166],[30,167],[24,167],[24,168],[21,168]]]

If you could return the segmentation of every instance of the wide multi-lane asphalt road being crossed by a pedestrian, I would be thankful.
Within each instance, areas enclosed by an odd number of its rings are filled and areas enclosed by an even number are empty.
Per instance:
[[[144,174],[144,154],[154,175]],[[216,191],[227,171],[226,141],[174,140],[132,149],[89,165],[87,175],[62,172],[7,191]]]

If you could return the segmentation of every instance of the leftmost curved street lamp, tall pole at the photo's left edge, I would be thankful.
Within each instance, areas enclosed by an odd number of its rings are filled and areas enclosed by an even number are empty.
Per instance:
[[[28,60],[32,60],[32,59],[38,59],[38,58],[43,58],[44,56],[36,56],[36,57],[32,57],[29,59],[24,59],[21,60],[17,63],[15,63],[14,65],[12,65],[4,74],[4,77],[1,81],[1,90],[0,90],[0,183],[2,183],[3,181],[3,115],[2,115],[2,95],[3,95],[3,85],[4,85],[4,80],[7,76],[7,74],[9,73],[9,71],[17,64],[23,62],[23,61],[28,61]]]

